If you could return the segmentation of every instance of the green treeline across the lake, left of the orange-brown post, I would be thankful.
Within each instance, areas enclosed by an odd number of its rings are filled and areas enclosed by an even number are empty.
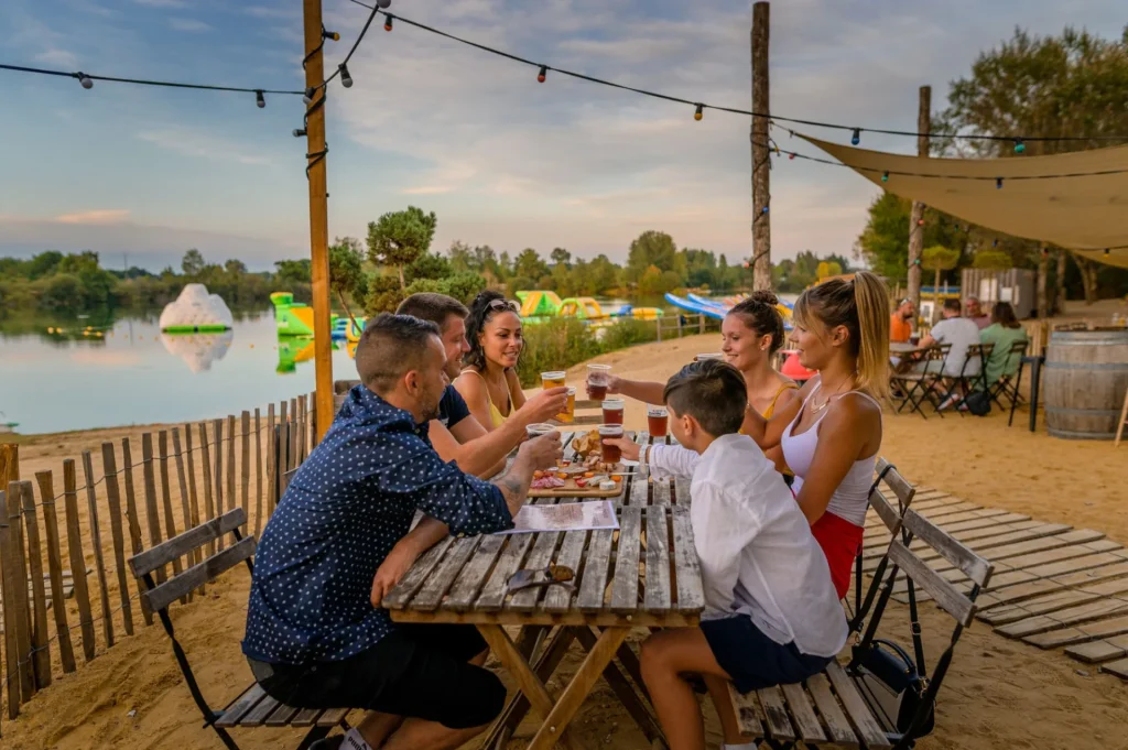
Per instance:
[[[77,315],[127,308],[149,310],[176,299],[185,284],[201,283],[230,307],[262,306],[271,292],[293,292],[309,300],[309,261],[280,261],[273,273],[252,273],[241,261],[208,263],[196,249],[184,254],[180,271],[159,274],[143,268],[103,268],[90,250],[39,253],[29,259],[0,258],[0,315],[47,312]]]

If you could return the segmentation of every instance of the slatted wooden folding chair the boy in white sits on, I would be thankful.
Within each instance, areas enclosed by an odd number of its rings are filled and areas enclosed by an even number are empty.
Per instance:
[[[888,475],[887,475],[888,478]],[[900,496],[895,483],[895,494]],[[901,486],[907,493],[908,483]],[[909,497],[911,497],[909,495]],[[875,572],[871,592],[880,591],[873,617],[865,628],[861,647],[876,636],[881,617],[892,593],[892,582],[898,571],[916,588],[927,592],[954,620],[955,627],[948,648],[936,662],[928,679],[923,706],[933,705],[944,674],[951,664],[955,643],[963,628],[976,614],[975,600],[990,579],[993,565],[961,545],[935,524],[911,509],[893,509],[880,491],[871,494],[871,505],[890,528],[892,539],[885,559]],[[963,593],[933,571],[909,549],[913,538],[924,541],[942,557],[959,567],[971,579],[970,592]],[[885,575],[885,568],[891,568]],[[871,595],[866,595],[867,602]],[[865,612],[869,605],[863,607]],[[858,653],[858,648],[855,648]],[[792,748],[799,742],[807,745],[843,748],[909,748],[920,736],[920,722],[925,708],[913,717],[906,730],[899,730],[865,698],[857,665],[831,662],[827,669],[799,685],[784,685],[740,695],[730,687],[729,695],[737,723],[744,742],[765,742],[772,748]]]

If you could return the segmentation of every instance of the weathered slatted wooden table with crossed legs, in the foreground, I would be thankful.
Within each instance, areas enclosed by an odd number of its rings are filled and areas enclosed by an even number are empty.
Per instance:
[[[633,436],[650,441],[646,433]],[[570,442],[571,433],[563,438]],[[534,502],[578,500],[584,498]],[[509,670],[519,692],[491,727],[483,748],[508,736],[531,707],[544,720],[531,750],[547,750],[557,742],[579,750],[566,729],[600,676],[647,741],[661,739],[658,722],[638,698],[646,691],[638,659],[625,639],[634,627],[685,627],[700,620],[705,597],[689,524],[688,484],[673,486],[669,480],[651,482],[645,474],[628,475],[611,502],[618,530],[448,538],[422,555],[384,599],[397,623],[473,624]],[[576,572],[574,588],[508,591],[518,570],[544,570],[549,562]],[[515,639],[505,626],[520,627]],[[573,641],[587,655],[553,696],[546,682]]]

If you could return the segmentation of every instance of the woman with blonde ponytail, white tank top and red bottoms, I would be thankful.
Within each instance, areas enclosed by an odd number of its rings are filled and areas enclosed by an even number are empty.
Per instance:
[[[783,448],[795,497],[845,595],[881,448],[889,292],[866,272],[827,281],[803,292],[794,323],[800,362],[819,374],[770,420],[746,414],[744,432],[765,450]]]

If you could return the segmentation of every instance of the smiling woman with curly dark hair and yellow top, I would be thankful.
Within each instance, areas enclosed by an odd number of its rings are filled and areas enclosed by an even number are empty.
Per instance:
[[[455,388],[466,399],[470,414],[492,432],[525,406],[525,391],[517,377],[517,363],[525,348],[517,305],[501,292],[481,292],[470,303],[466,339],[470,348],[462,358],[466,367],[455,379]]]

